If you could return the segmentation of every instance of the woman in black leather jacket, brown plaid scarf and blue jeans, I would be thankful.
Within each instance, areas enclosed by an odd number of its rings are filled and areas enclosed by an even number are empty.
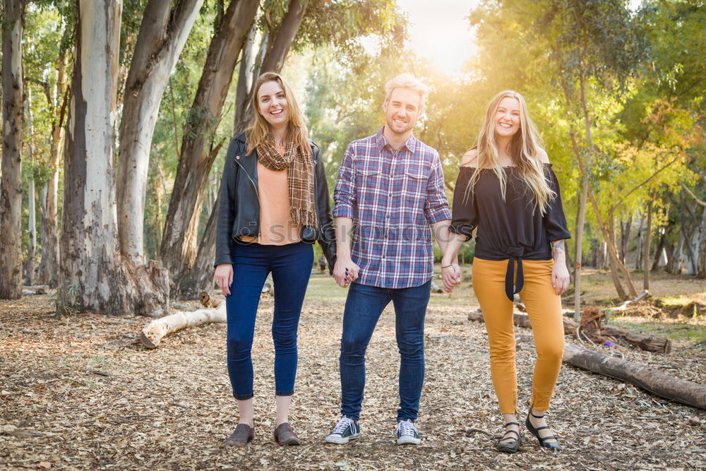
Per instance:
[[[215,282],[226,295],[228,373],[240,415],[225,443],[245,446],[255,435],[251,348],[262,287],[272,273],[275,441],[298,445],[287,416],[311,244],[318,240],[333,267],[335,233],[321,155],[307,137],[292,88],[276,73],[263,73],[252,107],[251,126],[230,143],[218,209]]]

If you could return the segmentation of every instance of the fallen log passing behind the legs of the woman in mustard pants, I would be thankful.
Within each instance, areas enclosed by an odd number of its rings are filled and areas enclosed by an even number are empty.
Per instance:
[[[469,321],[483,322],[483,314],[480,310],[469,312]],[[515,326],[532,328],[529,316],[525,314],[513,314]],[[623,330],[614,327],[601,327],[597,330],[580,330],[579,326],[573,321],[563,319],[564,335],[573,335],[575,338],[583,341],[585,337],[590,338],[593,342],[603,343],[607,338],[619,338],[624,340],[633,347],[638,347],[647,352],[669,353],[671,352],[671,340],[668,338],[656,337],[654,335],[645,335],[631,330]]]

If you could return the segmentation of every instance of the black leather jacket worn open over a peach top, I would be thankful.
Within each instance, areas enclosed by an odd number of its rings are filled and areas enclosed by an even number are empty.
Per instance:
[[[245,133],[230,141],[223,166],[220,203],[218,206],[218,229],[216,233],[215,265],[232,263],[232,242],[248,244],[240,236],[258,237],[260,234],[260,197],[258,196],[257,151],[246,155]],[[318,241],[331,268],[336,263],[336,235],[328,196],[328,183],[318,146],[311,143],[311,158],[314,162],[314,196],[319,227],[301,227],[302,242]]]

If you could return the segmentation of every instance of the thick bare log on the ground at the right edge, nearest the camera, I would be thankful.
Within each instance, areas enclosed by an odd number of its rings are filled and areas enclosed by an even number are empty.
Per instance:
[[[662,398],[706,410],[706,385],[675,378],[658,369],[567,343],[563,361],[580,369],[633,383]]]

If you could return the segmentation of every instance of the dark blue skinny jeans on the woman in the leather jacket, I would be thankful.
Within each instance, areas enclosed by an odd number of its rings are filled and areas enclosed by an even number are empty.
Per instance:
[[[232,244],[233,284],[226,297],[228,320],[228,374],[238,400],[253,397],[251,349],[255,316],[265,279],[272,272],[275,315],[275,395],[294,394],[297,376],[297,328],[306,285],[313,266],[311,245]]]

